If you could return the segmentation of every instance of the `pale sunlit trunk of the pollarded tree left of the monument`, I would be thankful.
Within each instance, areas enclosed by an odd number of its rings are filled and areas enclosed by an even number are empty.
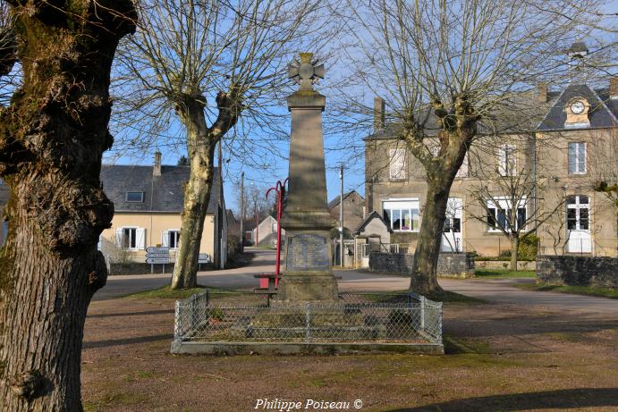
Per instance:
[[[172,289],[187,289],[198,286],[199,246],[212,189],[216,141],[207,130],[201,100],[187,98],[178,111],[187,128],[190,177],[184,188],[181,246],[176,255]]]

